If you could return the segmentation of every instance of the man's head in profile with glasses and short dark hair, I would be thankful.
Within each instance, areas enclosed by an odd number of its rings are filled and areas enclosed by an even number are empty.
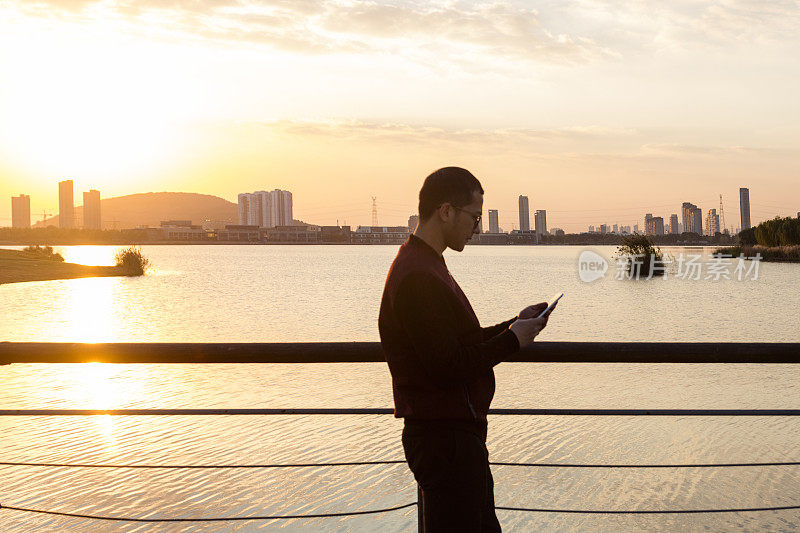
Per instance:
[[[478,233],[483,188],[468,170],[440,168],[425,178],[419,191],[420,226],[436,232],[445,246],[460,252]]]

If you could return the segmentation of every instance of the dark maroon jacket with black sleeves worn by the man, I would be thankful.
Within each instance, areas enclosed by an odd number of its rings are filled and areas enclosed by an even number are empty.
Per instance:
[[[395,417],[485,427],[492,368],[519,350],[511,322],[481,328],[444,258],[409,236],[389,269],[378,319]]]

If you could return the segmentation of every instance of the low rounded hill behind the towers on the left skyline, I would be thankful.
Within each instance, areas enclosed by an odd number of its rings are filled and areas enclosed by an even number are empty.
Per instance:
[[[147,192],[100,200],[103,229],[158,226],[162,220],[191,220],[193,224],[224,227],[237,224],[239,208],[209,194],[190,192]],[[76,226],[83,223],[83,206],[75,207]],[[34,227],[58,226],[58,216],[37,222]]]

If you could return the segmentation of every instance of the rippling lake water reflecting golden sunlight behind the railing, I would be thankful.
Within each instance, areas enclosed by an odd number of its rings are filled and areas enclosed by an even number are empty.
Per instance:
[[[116,248],[57,247],[111,264]],[[591,249],[605,278],[578,275]],[[142,278],[0,286],[0,341],[377,341],[396,246],[145,246]],[[614,247],[468,246],[445,259],[484,325],[555,292],[546,341],[800,342],[800,265],[761,263],[756,279],[715,279],[710,248],[665,248],[663,279],[618,280]],[[698,255],[700,279],[679,276]],[[748,268],[752,266],[747,262]],[[735,264],[735,263],[734,263]],[[733,268],[730,273],[733,274]],[[495,369],[496,408],[800,408],[791,365],[527,364]],[[33,408],[391,407],[380,363],[321,365],[10,365],[0,405]],[[800,460],[791,417],[494,416],[493,461],[719,463]],[[391,416],[3,417],[0,461],[265,464],[402,459]],[[800,467],[493,467],[497,505],[710,509],[800,504]],[[0,503],[117,516],[308,514],[414,501],[405,465],[135,470],[0,466]],[[796,511],[579,515],[498,511],[508,531],[785,530]],[[416,508],[348,518],[149,525],[0,511],[3,531],[409,531]]]

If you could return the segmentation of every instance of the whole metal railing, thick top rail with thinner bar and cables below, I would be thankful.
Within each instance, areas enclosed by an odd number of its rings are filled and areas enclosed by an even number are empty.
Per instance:
[[[0,343],[0,364],[11,363],[342,363],[382,362],[379,343]],[[800,363],[800,343],[606,343],[537,342],[521,350],[512,362],[570,363]],[[2,372],[2,370],[0,370]],[[264,409],[5,409],[0,416],[86,416],[86,415],[387,415],[385,408],[264,408]],[[537,416],[800,416],[800,409],[491,409],[492,415]],[[0,466],[71,468],[320,468],[354,465],[404,463],[357,461],[347,463],[255,464],[255,465],[108,465],[70,463],[0,462]],[[761,466],[800,466],[800,461],[719,464],[567,464],[508,463],[491,465],[548,468],[730,468]],[[131,522],[217,522],[240,520],[279,520],[325,518],[385,513],[417,506],[422,530],[422,494],[417,501],[384,509],[314,515],[271,515],[209,518],[140,518],[63,513],[18,506],[0,505],[0,510],[40,513],[66,517]],[[612,511],[596,509],[543,509],[497,506],[497,509],[527,512],[583,514],[695,514],[797,510],[800,505],[733,509],[668,509]]]

